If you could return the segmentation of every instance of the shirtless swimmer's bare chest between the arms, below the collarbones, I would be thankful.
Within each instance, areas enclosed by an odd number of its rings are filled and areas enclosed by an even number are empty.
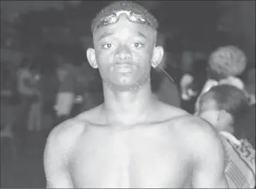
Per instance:
[[[193,158],[179,118],[127,129],[79,122],[85,129],[68,154],[74,188],[191,188]]]

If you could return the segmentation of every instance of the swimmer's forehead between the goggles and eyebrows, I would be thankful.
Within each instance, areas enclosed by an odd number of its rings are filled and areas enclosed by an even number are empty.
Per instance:
[[[101,28],[97,29],[97,31],[95,31],[94,37],[96,39],[100,39],[101,36],[110,35],[136,35],[149,39],[152,36],[155,36],[156,32],[148,25],[138,24],[129,21],[129,19],[127,19],[127,16],[125,14],[122,14],[118,22],[111,25],[102,26]]]

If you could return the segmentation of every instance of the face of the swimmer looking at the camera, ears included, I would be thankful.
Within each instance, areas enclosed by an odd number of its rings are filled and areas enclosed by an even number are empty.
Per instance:
[[[155,31],[147,25],[135,24],[121,14],[118,22],[95,31],[95,49],[87,50],[93,68],[99,68],[103,82],[115,89],[142,86],[163,57],[163,48],[155,47]]]

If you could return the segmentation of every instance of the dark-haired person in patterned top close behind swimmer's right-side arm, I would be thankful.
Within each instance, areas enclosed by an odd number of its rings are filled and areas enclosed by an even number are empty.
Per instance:
[[[245,92],[230,85],[212,87],[196,103],[195,115],[213,124],[223,138],[229,188],[255,187],[255,149],[247,140],[250,136],[246,135],[246,126],[240,124],[248,113]]]

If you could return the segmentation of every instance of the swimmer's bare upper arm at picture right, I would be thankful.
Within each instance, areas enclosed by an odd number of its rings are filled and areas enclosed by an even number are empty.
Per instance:
[[[193,188],[228,188],[225,150],[217,131],[202,122],[194,144]]]

